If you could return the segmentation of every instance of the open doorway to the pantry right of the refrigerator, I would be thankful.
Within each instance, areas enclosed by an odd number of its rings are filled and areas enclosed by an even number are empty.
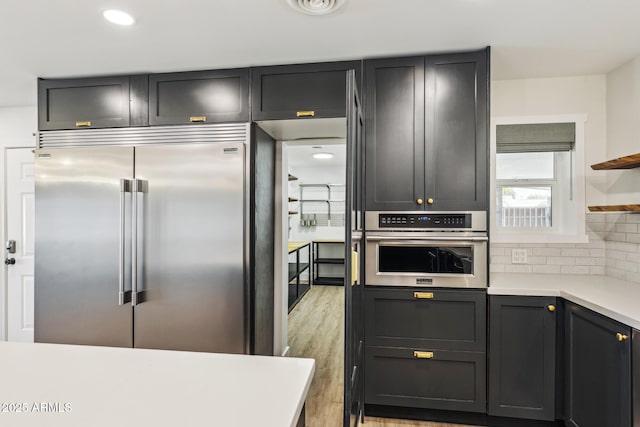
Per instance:
[[[283,275],[276,330],[278,315],[282,324],[276,354],[280,345],[280,354],[316,361],[306,401],[307,425],[342,425],[346,121],[273,121],[260,126],[277,141],[280,176],[276,222],[282,229],[276,231],[275,246]]]

